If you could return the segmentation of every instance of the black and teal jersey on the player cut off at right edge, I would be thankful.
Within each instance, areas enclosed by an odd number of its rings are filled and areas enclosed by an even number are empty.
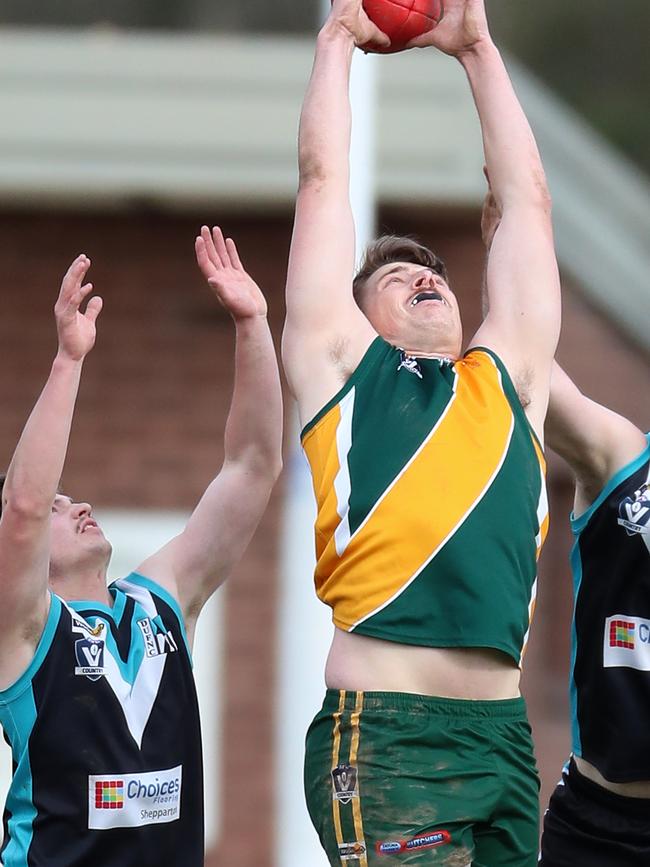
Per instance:
[[[573,752],[612,782],[650,780],[650,435],[571,526]]]

